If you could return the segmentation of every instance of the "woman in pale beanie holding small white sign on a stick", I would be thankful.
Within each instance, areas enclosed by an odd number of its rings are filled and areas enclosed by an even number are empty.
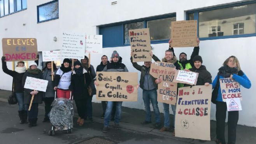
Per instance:
[[[37,64],[35,62],[31,62],[29,64],[29,68],[26,71],[26,73],[23,75],[22,78],[22,85],[24,87],[26,78],[27,77],[32,77],[32,78],[39,78],[42,79],[42,71],[37,68]],[[30,106],[30,101],[33,97],[32,105],[30,111],[28,111],[29,106]],[[42,92],[39,92],[38,90],[32,90],[28,88],[24,88],[24,107],[25,110],[28,111],[28,122],[29,125],[28,127],[35,127],[37,126],[37,115],[38,115],[38,104],[42,103]]]

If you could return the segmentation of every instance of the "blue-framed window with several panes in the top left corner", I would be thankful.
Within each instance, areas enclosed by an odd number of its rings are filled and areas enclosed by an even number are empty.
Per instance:
[[[27,8],[27,0],[0,0],[0,17]]]

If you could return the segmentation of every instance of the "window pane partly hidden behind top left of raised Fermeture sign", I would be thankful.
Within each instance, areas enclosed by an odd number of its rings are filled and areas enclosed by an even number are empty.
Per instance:
[[[124,44],[130,44],[130,29],[140,29],[144,28],[144,21],[137,23],[124,24]]]

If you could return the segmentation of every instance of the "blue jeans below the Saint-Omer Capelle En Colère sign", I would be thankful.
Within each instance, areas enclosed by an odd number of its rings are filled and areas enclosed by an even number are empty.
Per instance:
[[[121,119],[121,112],[122,112],[122,103],[123,102],[115,102],[116,103],[116,113],[115,113],[115,124],[119,124],[119,121]],[[105,117],[104,117],[104,127],[109,127],[109,121],[111,118],[111,113],[112,113],[112,107],[113,107],[114,102],[108,101],[107,102],[107,109],[105,112]]]

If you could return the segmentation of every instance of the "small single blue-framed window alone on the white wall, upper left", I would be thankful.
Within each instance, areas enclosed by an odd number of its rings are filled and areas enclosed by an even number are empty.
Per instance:
[[[45,22],[59,18],[59,1],[54,0],[37,6],[37,22]]]

